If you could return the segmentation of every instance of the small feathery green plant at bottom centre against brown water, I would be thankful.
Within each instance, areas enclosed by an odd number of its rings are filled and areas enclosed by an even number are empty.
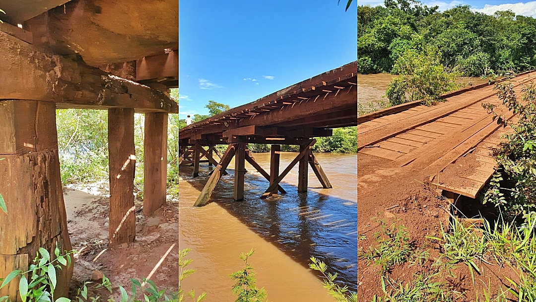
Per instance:
[[[238,297],[236,302],[259,302],[264,301],[266,296],[266,290],[264,288],[257,289],[257,282],[255,280],[255,268],[252,268],[248,263],[248,258],[255,253],[255,249],[251,249],[248,253],[242,252],[240,259],[245,263],[245,267],[239,271],[233,272],[229,277],[236,281],[233,286],[233,293]]]

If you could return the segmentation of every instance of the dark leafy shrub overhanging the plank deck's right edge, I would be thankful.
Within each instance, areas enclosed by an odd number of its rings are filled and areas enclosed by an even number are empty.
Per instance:
[[[536,203],[536,85],[532,81],[522,84],[522,95],[518,97],[513,84],[506,80],[497,83],[495,89],[502,104],[517,114],[516,123],[505,121],[502,113],[495,112],[496,105],[482,105],[498,124],[513,130],[503,136],[496,156],[499,168],[482,196],[483,203],[500,207],[507,220],[526,218]]]

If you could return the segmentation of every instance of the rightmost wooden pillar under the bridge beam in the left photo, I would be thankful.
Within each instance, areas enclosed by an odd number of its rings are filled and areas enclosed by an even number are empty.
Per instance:
[[[143,213],[152,213],[166,203],[167,113],[145,114],[143,142]]]

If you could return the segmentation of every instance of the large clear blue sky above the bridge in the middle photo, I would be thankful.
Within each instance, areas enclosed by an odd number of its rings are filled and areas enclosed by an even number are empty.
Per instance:
[[[356,1],[181,0],[179,113],[254,101],[356,60]]]

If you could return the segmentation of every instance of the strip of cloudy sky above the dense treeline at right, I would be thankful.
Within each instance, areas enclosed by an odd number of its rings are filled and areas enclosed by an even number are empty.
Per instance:
[[[355,0],[354,0],[355,1]],[[383,0],[358,0],[359,5],[382,5]],[[490,1],[479,1],[479,0],[451,0],[451,1],[421,1],[423,4],[428,6],[439,6],[441,11],[446,9],[451,9],[456,5],[470,5],[471,8],[475,11],[483,12],[486,14],[493,14],[498,10],[512,10],[516,14],[521,14],[523,16],[536,17],[536,1],[509,1],[509,0],[490,0]]]

